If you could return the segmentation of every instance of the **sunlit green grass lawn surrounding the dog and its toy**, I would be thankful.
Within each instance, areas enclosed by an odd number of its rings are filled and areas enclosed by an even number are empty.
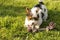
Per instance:
[[[48,8],[48,20],[41,27],[46,27],[50,21],[56,23],[56,29],[27,32],[24,27],[25,8],[32,8],[37,0],[0,0],[0,40],[60,40],[60,1],[45,0]]]

